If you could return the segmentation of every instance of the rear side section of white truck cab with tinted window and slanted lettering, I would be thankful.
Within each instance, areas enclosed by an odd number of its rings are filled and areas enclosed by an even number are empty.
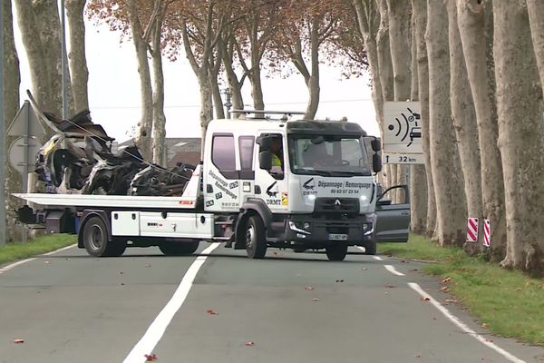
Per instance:
[[[204,169],[206,211],[239,211],[239,162],[233,133],[214,132]]]

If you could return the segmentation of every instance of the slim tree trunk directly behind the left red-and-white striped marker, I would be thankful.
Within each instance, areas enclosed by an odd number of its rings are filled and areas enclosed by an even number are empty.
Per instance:
[[[464,193],[467,199],[468,215],[481,220],[481,163],[478,144],[476,113],[470,90],[467,67],[462,53],[461,35],[457,25],[457,5],[447,2],[449,44],[450,44],[450,94],[452,117],[464,179]],[[483,234],[483,233],[482,233]],[[478,243],[467,242],[464,245],[470,255],[480,252]]]

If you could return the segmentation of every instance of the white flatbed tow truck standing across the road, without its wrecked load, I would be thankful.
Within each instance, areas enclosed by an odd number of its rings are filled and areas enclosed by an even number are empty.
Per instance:
[[[348,246],[374,254],[380,233],[405,241],[398,223],[385,221],[398,210],[390,203],[382,203],[390,208],[380,221],[389,231],[377,230],[380,143],[359,124],[234,112],[244,117],[209,123],[203,161],[181,196],[15,194],[34,206],[20,211],[20,221],[75,233],[78,247],[97,257],[149,246],[188,255],[208,241],[245,249],[252,259],[270,247],[325,249],[329,260],[344,260]],[[409,214],[406,231],[408,222]]]

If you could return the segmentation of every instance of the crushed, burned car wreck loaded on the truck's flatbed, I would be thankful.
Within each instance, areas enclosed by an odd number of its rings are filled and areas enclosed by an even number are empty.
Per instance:
[[[34,100],[33,100],[34,101]],[[49,193],[181,195],[195,169],[178,163],[172,170],[145,162],[136,145],[112,152],[113,138],[92,123],[85,110],[68,120],[36,110],[53,130],[36,156],[35,172]]]

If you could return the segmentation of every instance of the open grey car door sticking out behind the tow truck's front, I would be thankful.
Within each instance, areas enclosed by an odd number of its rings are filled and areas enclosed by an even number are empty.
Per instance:
[[[404,190],[405,201],[393,203],[393,192]],[[385,190],[376,201],[376,242],[407,242],[410,232],[410,196],[406,185]]]

